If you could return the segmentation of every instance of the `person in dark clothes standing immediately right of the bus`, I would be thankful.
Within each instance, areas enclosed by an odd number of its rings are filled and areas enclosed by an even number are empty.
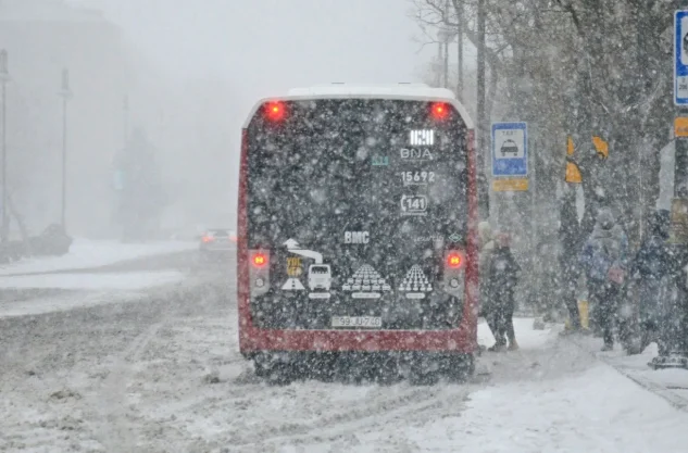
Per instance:
[[[516,334],[514,331],[514,290],[518,282],[521,266],[511,253],[511,236],[501,232],[497,236],[497,248],[490,262],[489,281],[491,301],[495,307],[497,325],[497,343],[493,351],[503,350],[509,340],[509,350],[518,349]]]

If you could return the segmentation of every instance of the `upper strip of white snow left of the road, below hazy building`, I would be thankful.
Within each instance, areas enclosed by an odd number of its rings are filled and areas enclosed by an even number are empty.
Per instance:
[[[49,273],[107,266],[145,256],[163,255],[198,248],[197,242],[160,241],[122,243],[76,239],[64,256],[37,257],[0,265],[0,275]]]

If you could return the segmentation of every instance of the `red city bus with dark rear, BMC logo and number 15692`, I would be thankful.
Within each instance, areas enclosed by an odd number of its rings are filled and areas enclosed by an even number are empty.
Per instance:
[[[237,261],[240,350],[258,375],[373,357],[416,379],[473,373],[473,142],[453,93],[424,85],[332,85],[254,105]]]

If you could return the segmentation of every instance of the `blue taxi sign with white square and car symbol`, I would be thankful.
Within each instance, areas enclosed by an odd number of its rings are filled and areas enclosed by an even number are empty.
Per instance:
[[[528,175],[526,123],[492,124],[492,176]]]

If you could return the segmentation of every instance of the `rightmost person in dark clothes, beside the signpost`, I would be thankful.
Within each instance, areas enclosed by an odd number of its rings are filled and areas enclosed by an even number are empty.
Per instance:
[[[638,328],[640,334],[640,351],[652,341],[658,341],[660,349],[660,329],[663,324],[662,278],[670,275],[670,252],[666,241],[670,236],[670,212],[658,210],[648,222],[648,237],[640,244],[629,274],[638,286],[640,295]],[[662,351],[660,351],[660,354]]]

